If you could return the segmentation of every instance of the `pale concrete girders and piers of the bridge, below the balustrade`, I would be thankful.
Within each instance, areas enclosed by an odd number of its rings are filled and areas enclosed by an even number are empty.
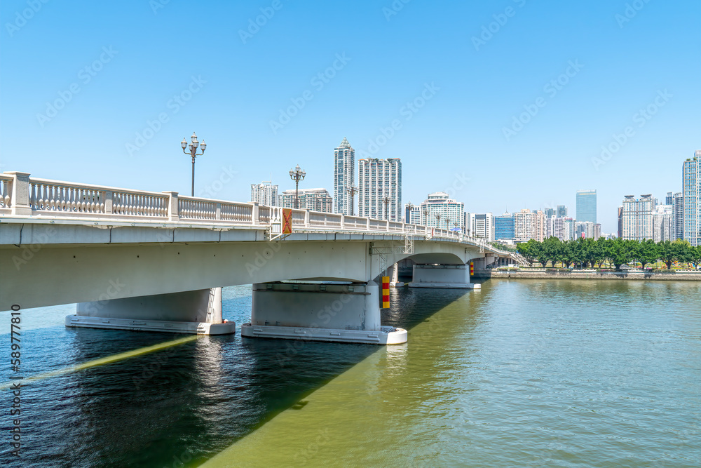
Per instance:
[[[381,326],[378,276],[389,269],[397,281],[392,267],[407,260],[417,264],[410,286],[471,288],[465,265],[484,257],[449,240],[415,240],[407,252],[404,236],[392,234],[297,233],[270,242],[256,229],[7,227],[0,225],[0,265],[12,270],[2,273],[0,310],[78,303],[66,324],[90,328],[233,333],[235,324],[222,320],[221,288],[252,283],[244,336],[404,342],[406,330]]]

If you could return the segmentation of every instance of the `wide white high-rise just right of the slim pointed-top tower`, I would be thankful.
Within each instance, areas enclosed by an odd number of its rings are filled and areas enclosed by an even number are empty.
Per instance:
[[[402,220],[402,161],[399,158],[358,161],[358,215]]]

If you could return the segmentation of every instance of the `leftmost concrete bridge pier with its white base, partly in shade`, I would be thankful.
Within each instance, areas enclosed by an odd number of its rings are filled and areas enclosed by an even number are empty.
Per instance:
[[[230,335],[236,323],[222,320],[222,288],[81,302],[66,326],[113,330]]]

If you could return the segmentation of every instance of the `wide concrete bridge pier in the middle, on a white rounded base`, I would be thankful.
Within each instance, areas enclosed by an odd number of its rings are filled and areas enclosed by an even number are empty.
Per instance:
[[[379,287],[367,283],[257,283],[241,336],[395,345],[407,330],[381,326]]]

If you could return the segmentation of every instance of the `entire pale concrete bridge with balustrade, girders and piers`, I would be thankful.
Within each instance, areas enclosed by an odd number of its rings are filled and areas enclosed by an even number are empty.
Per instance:
[[[0,174],[0,310],[77,303],[67,326],[233,333],[222,287],[252,283],[244,336],[393,344],[397,262],[409,287],[479,288],[472,265],[521,261],[447,229]]]

